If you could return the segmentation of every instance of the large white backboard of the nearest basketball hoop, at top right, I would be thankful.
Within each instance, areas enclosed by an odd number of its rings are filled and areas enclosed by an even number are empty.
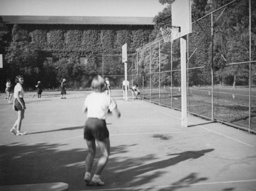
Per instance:
[[[192,32],[191,0],[176,0],[172,4],[172,26],[172,40]]]

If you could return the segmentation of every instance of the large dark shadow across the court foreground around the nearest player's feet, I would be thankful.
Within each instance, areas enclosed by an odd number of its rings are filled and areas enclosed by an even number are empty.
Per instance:
[[[45,182],[66,182],[69,184],[70,190],[83,190],[88,188],[83,183],[84,175],[84,158],[87,152],[83,149],[72,149],[68,151],[59,151],[59,147],[65,147],[65,144],[36,144],[36,145],[20,145],[12,144],[8,146],[0,146],[1,158],[5,161],[1,163],[1,177],[0,182],[2,185],[15,185],[15,184],[34,184]],[[127,148],[135,147],[135,145],[121,145],[112,147],[112,154],[126,153]],[[138,175],[142,175],[151,171],[164,169],[168,166],[175,165],[179,162],[189,159],[197,159],[202,157],[205,153],[214,151],[214,149],[201,150],[201,151],[187,151],[183,153],[170,154],[175,156],[166,160],[148,163],[143,165],[143,162],[138,161],[151,161],[154,155],[148,155],[138,158],[128,158],[122,162],[118,162],[115,158],[110,159],[109,163],[114,163],[115,168],[108,171],[108,177],[115,180],[115,184],[111,185],[110,182],[106,183],[109,188],[116,186],[141,186],[147,182],[154,181],[155,178],[161,176],[160,172],[152,175],[143,176],[142,179],[137,180]],[[97,150],[97,153],[99,151]],[[5,154],[3,154],[5,153]],[[5,160],[8,159],[8,160]],[[96,160],[98,157],[96,157]],[[121,166],[125,164],[125,169],[120,171]],[[133,168],[133,166],[138,166]],[[94,165],[93,169],[95,170]],[[108,178],[106,178],[108,179]],[[129,181],[127,181],[129,180]],[[174,187],[171,190],[180,187],[187,187],[188,184],[196,183],[207,180],[206,177],[198,177],[196,173],[189,174],[178,182],[173,183]],[[171,183],[172,181],[170,181]],[[185,185],[183,185],[185,184]],[[99,188],[99,187],[90,187]],[[137,190],[137,189],[134,189]],[[139,190],[139,189],[138,189]],[[161,189],[165,190],[165,189]],[[170,189],[168,189],[170,190]]]

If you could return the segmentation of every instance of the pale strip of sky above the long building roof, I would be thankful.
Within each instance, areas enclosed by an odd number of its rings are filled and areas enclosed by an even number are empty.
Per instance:
[[[158,0],[0,0],[0,15],[154,17]]]

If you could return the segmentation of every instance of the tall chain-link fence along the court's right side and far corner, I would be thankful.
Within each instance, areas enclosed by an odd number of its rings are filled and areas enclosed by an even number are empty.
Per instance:
[[[188,112],[254,133],[256,18],[251,7],[255,4],[233,1],[194,21],[186,37]],[[102,57],[102,75],[113,77],[113,86],[121,88],[124,69],[121,55],[117,57]],[[109,62],[113,67],[108,68]],[[129,56],[127,68],[130,84],[139,85],[144,100],[181,109],[179,40],[160,39],[141,47]]]

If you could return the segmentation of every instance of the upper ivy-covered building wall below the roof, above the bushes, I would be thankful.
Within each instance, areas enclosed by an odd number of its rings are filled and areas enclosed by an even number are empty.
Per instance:
[[[128,45],[128,54],[132,54],[148,42],[154,26],[19,25],[16,28],[19,31],[14,32],[14,41],[30,41],[42,51],[62,58],[121,54],[124,43]]]

